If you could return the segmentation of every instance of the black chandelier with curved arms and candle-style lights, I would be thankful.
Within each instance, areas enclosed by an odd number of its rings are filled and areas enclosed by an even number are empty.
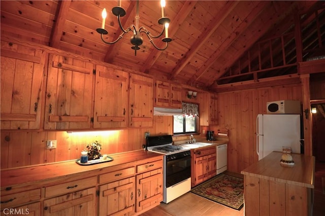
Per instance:
[[[104,8],[103,12],[102,12],[102,17],[103,17],[103,21],[102,21],[102,28],[98,28],[96,29],[96,31],[98,33],[101,34],[102,40],[103,42],[105,42],[105,44],[115,44],[117,41],[119,41],[123,35],[125,33],[128,32],[133,32],[133,36],[131,37],[131,44],[133,45],[131,48],[135,51],[135,56],[137,55],[137,50],[140,50],[140,47],[143,43],[143,39],[141,37],[141,33],[145,33],[149,39],[149,41],[151,42],[151,44],[153,45],[154,48],[156,48],[157,50],[163,51],[166,50],[168,47],[168,43],[170,41],[172,41],[172,38],[168,37],[168,27],[169,27],[169,23],[171,22],[171,20],[168,17],[165,17],[165,6],[166,6],[166,2],[165,0],[161,0],[160,1],[160,5],[161,5],[161,18],[158,19],[158,24],[163,25],[163,30],[161,30],[160,34],[157,36],[154,36],[150,33],[150,31],[148,31],[145,27],[140,27],[139,28],[139,0],[137,0],[137,13],[136,13],[136,25],[132,24],[131,26],[129,26],[128,28],[124,29],[122,24],[121,24],[121,20],[120,17],[123,17],[126,15],[126,12],[123,8],[121,8],[121,0],[118,0],[118,6],[114,7],[112,9],[112,13],[117,16],[117,21],[118,21],[118,25],[120,26],[122,33],[118,36],[118,38],[112,42],[107,42],[104,40],[103,35],[108,34],[108,31],[105,29],[105,19],[107,16],[106,13],[106,9]],[[161,39],[163,42],[166,42],[166,46],[165,48],[158,48],[152,38],[158,38],[161,35],[163,35],[165,31],[165,37],[163,39]]]

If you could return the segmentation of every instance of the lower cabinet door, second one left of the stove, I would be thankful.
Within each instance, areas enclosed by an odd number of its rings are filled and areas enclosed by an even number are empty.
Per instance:
[[[135,187],[135,177],[100,186],[99,215],[134,214]]]

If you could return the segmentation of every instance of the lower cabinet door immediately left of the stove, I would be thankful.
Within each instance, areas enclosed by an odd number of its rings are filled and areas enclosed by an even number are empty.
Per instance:
[[[163,201],[163,168],[137,175],[136,212]]]

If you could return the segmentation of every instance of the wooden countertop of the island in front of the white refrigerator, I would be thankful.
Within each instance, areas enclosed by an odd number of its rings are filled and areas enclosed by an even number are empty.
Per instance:
[[[295,165],[280,164],[282,152],[272,152],[241,171],[241,174],[270,181],[314,188],[315,157],[292,154]]]

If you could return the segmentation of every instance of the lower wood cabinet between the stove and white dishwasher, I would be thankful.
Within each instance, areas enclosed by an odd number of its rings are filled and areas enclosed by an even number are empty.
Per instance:
[[[216,175],[216,147],[192,149],[191,155],[191,187],[194,187]]]

